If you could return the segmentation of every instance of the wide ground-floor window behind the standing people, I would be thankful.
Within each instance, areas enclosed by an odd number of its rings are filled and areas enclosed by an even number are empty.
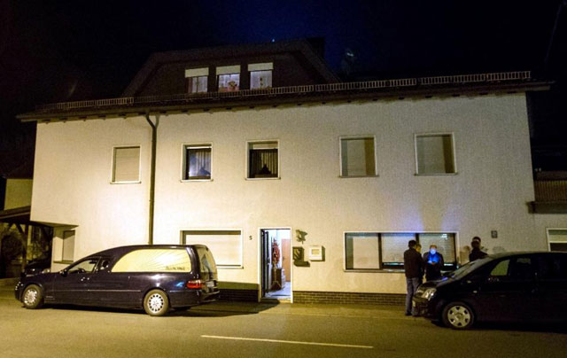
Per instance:
[[[403,269],[409,240],[420,243],[423,253],[430,245],[437,245],[445,261],[444,269],[456,269],[455,235],[446,232],[346,232],[345,269]]]

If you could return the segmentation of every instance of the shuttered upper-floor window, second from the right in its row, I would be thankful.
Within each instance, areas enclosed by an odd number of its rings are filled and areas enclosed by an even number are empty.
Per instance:
[[[375,176],[376,157],[373,136],[340,138],[340,176]]]

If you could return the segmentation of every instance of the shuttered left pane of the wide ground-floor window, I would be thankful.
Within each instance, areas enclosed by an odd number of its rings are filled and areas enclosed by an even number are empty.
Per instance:
[[[380,249],[376,233],[345,235],[346,269],[380,269]]]

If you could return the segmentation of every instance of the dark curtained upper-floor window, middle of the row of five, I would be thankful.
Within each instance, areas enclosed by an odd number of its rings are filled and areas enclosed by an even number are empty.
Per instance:
[[[248,143],[248,178],[279,177],[277,141]]]

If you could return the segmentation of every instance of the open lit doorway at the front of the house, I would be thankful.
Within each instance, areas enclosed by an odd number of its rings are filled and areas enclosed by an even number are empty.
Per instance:
[[[291,229],[261,229],[262,298],[291,299]]]

